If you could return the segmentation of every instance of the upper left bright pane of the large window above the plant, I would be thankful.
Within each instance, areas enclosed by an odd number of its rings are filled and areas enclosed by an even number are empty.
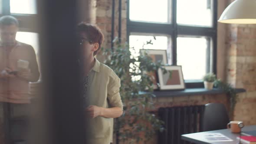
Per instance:
[[[129,3],[130,20],[170,23],[169,0],[130,0]]]

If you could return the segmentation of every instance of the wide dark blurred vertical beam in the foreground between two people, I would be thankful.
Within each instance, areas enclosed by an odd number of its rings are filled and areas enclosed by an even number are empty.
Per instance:
[[[85,144],[81,69],[77,62],[80,55],[75,31],[77,2],[38,1],[43,108],[48,140],[44,143],[34,140],[33,144]]]

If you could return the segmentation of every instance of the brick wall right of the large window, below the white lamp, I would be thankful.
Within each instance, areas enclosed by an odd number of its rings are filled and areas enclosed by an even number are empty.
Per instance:
[[[239,95],[234,120],[256,124],[256,26],[230,24],[227,33],[227,82],[246,89]]]

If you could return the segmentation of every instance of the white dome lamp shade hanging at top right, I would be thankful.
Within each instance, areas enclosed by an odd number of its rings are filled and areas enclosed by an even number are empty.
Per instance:
[[[226,7],[218,22],[256,24],[256,0],[235,0]]]

